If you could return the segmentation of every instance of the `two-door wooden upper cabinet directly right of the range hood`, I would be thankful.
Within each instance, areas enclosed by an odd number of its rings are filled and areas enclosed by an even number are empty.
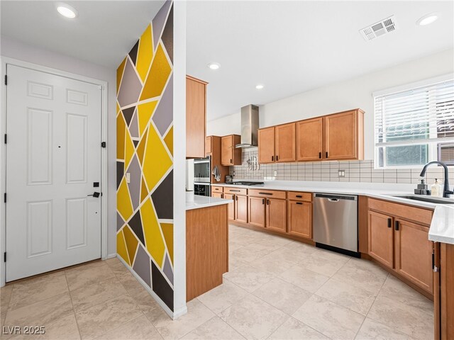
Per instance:
[[[258,162],[295,161],[295,123],[258,130]]]

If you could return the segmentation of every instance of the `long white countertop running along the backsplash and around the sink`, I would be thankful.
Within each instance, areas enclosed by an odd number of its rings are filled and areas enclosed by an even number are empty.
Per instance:
[[[248,180],[244,180],[248,181]],[[236,186],[234,184],[216,183],[214,186]],[[397,183],[350,183],[350,182],[309,182],[309,181],[265,181],[262,185],[236,186],[238,188],[264,188],[282,191],[306,191],[310,193],[343,193],[351,195],[380,198],[396,203],[415,205],[433,209],[431,228],[428,239],[435,242],[454,244],[454,204],[443,205],[419,200],[394,197],[391,195],[413,194],[414,184]]]

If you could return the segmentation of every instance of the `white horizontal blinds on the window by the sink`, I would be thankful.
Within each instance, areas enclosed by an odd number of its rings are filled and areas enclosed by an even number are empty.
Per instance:
[[[454,141],[454,80],[375,96],[375,145]]]

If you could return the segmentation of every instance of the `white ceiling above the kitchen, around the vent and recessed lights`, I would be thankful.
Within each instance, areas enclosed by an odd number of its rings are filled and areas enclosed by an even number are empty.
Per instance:
[[[187,73],[209,81],[207,120],[453,47],[454,1],[190,1]],[[431,12],[429,26],[416,21]],[[358,30],[393,15],[371,42]],[[206,64],[218,62],[211,71]],[[256,84],[264,84],[258,91]],[[329,100],[329,98],[326,98]]]

